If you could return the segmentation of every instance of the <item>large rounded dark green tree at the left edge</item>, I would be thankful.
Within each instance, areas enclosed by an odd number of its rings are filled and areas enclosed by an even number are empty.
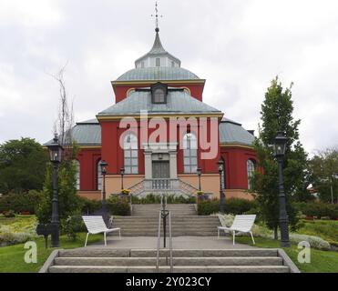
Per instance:
[[[0,145],[0,193],[28,193],[44,185],[47,155],[32,138]]]

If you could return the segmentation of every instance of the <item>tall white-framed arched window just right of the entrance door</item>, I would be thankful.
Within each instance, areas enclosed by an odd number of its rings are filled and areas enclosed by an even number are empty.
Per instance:
[[[188,133],[183,136],[183,165],[184,173],[197,171],[197,139],[196,135]]]

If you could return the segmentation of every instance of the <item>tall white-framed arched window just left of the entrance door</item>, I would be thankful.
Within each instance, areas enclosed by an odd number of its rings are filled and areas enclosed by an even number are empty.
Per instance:
[[[125,173],[138,174],[138,137],[126,135],[124,139]]]

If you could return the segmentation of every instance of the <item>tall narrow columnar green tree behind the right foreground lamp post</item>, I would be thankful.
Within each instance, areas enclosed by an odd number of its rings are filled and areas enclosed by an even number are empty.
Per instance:
[[[292,85],[283,89],[278,77],[272,80],[261,105],[260,135],[254,142],[259,165],[251,178],[251,191],[256,194],[261,216],[267,226],[275,231],[279,226],[278,166],[273,158],[273,144],[278,131],[288,137],[283,165],[284,188],[290,225],[297,226],[297,214],[292,206],[304,191],[307,156],[299,141],[300,120],[292,117]]]

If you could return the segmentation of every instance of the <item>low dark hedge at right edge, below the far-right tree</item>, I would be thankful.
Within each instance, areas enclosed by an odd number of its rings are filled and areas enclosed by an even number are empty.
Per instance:
[[[297,210],[301,211],[305,216],[330,217],[330,219],[338,218],[338,205],[322,202],[300,202],[295,203]]]

